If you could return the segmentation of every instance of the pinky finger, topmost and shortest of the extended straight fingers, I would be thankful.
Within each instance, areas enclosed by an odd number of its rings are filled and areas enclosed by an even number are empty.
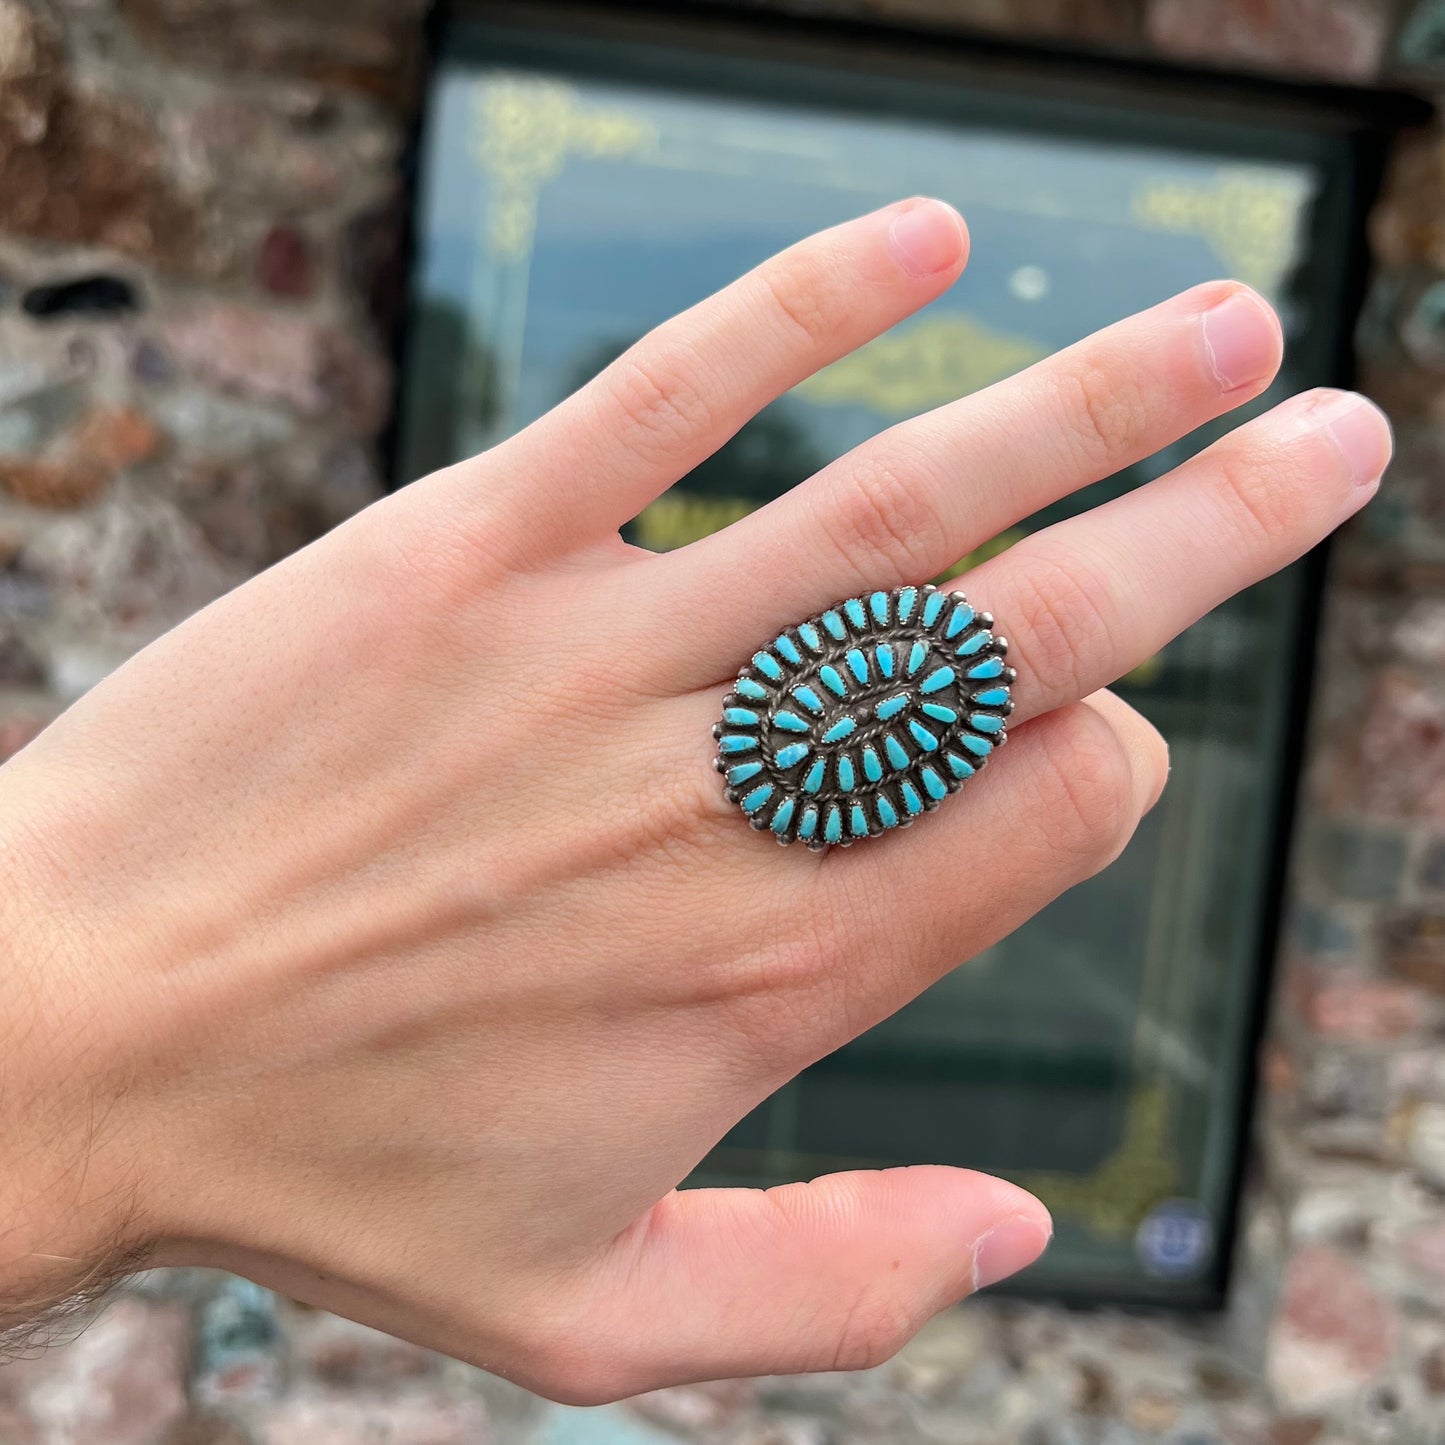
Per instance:
[[[769,402],[946,290],[962,217],[915,198],[809,236],[650,331],[503,444],[488,506],[556,553],[614,533]],[[454,471],[467,486],[470,464]]]

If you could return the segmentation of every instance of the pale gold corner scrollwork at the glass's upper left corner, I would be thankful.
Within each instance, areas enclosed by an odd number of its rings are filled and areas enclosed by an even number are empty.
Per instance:
[[[477,163],[491,179],[490,243],[499,260],[532,247],[538,194],[569,156],[631,156],[656,149],[656,127],[633,111],[588,105],[577,87],[530,75],[493,75],[473,100]]]

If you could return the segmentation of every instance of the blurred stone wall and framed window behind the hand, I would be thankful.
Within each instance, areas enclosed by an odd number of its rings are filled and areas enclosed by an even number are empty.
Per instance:
[[[1124,857],[694,1181],[1007,1175],[1058,1231],[1007,1295],[860,1376],[585,1412],[153,1272],[0,1370],[0,1445],[1445,1442],[1438,92],[1442,0],[0,0],[0,757],[188,611],[909,194],[967,215],[964,280],[633,540],[682,546],[1217,276],[1287,334],[1247,410],[1360,386],[1397,434],[1328,558],[1123,681],[1173,754]]]

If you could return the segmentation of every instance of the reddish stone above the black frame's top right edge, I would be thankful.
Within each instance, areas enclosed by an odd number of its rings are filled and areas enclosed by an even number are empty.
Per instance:
[[[1150,0],[1146,23],[1172,59],[1341,81],[1374,78],[1390,33],[1371,0]]]

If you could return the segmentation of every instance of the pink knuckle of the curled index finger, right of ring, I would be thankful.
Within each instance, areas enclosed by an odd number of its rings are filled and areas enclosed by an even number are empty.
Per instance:
[[[1113,861],[1134,829],[1134,776],[1118,736],[1091,708],[1077,708],[1071,725],[1045,750],[1051,844],[1090,870]]]

